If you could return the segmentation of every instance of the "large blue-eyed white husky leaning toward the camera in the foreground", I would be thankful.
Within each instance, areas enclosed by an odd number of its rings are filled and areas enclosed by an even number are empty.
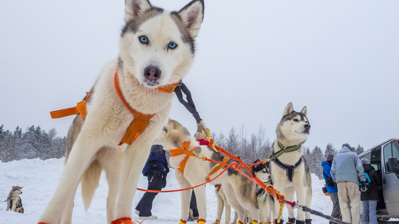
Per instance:
[[[87,102],[85,121],[79,115],[73,121],[68,134],[70,153],[40,222],[58,224],[66,218],[63,216],[70,216],[80,181],[86,185],[82,195],[88,202],[102,169],[109,183],[108,223],[132,217],[138,177],[152,142],[168,121],[174,98],[174,93],[155,88],[176,83],[188,73],[203,10],[203,0],[192,0],[178,12],[156,8],[148,0],[125,0],[126,24],[120,36],[119,57],[99,74]],[[115,90],[116,71],[123,102]],[[117,147],[133,119],[125,104],[142,114],[156,114],[127,148]]]

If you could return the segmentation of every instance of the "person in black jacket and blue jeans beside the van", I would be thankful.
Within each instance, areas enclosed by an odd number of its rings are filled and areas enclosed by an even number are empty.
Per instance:
[[[377,201],[378,197],[378,186],[381,186],[381,178],[377,171],[371,166],[368,159],[363,158],[360,160],[364,172],[369,175],[370,182],[366,185],[367,190],[360,192],[360,200],[363,203],[363,213],[361,214],[361,224],[369,222],[371,224],[377,224]]]

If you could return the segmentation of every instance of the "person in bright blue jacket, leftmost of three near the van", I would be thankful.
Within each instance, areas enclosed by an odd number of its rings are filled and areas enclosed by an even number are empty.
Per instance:
[[[338,188],[335,186],[335,183],[332,180],[332,176],[330,173],[333,159],[334,155],[330,154],[327,156],[326,161],[322,161],[323,177],[324,180],[326,181],[327,192],[330,194],[333,204],[331,216],[340,219],[341,209],[340,209],[340,202],[338,200]],[[336,222],[330,221],[330,224],[336,224]]]

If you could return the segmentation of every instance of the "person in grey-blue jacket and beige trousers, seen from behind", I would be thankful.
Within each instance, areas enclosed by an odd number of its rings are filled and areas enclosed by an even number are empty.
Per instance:
[[[360,224],[358,183],[365,184],[367,180],[359,156],[351,148],[347,143],[342,145],[342,149],[334,156],[330,173],[337,183],[342,221]]]

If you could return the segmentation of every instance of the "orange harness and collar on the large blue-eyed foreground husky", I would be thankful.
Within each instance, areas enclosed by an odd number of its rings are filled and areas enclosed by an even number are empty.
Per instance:
[[[173,83],[169,85],[160,86],[158,88],[155,88],[155,90],[158,90],[160,92],[172,93],[178,84],[179,83]],[[129,110],[130,114],[132,114],[133,116],[133,120],[130,123],[129,127],[127,128],[126,133],[124,134],[119,145],[122,145],[123,143],[130,145],[138,136],[140,136],[141,132],[144,130],[144,128],[146,128],[148,122],[152,117],[154,117],[155,114],[142,114],[129,106],[128,102],[123,97],[122,91],[120,90],[118,69],[117,71],[115,71],[114,85],[115,85],[115,90],[117,91],[118,96],[122,101],[123,105]],[[83,98],[81,102],[78,102],[75,107],[63,110],[51,111],[50,112],[51,118],[53,119],[63,118],[70,115],[80,114],[82,119],[85,120],[87,115],[86,102],[87,100],[89,100],[91,92],[92,90],[90,92],[86,92],[85,98]]]

